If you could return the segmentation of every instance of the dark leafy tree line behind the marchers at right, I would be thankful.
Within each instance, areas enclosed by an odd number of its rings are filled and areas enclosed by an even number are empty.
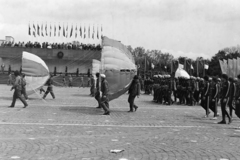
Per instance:
[[[219,59],[240,57],[240,45],[223,48],[212,56],[211,59],[204,57],[197,57],[196,59],[183,56],[174,57],[174,55],[168,52],[146,50],[143,47],[132,48],[127,46],[127,48],[132,53],[140,74],[147,75],[174,74],[179,64],[182,64],[190,75],[196,77],[203,77],[204,75],[220,77],[222,73]],[[208,65],[208,69],[205,69],[204,65]]]

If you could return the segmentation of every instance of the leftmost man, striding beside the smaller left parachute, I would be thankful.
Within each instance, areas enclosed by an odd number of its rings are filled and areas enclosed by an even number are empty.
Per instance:
[[[18,70],[14,72],[14,75],[16,78],[15,78],[13,87],[11,89],[11,90],[14,89],[13,100],[12,100],[12,104],[9,106],[9,108],[13,108],[15,106],[17,98],[19,98],[22,101],[22,103],[24,104],[23,108],[26,108],[28,106],[28,104],[22,96],[22,78],[20,77]]]

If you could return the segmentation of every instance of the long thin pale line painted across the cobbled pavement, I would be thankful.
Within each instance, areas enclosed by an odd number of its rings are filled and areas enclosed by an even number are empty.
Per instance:
[[[123,127],[123,128],[209,128],[207,126],[134,126],[134,125],[101,125],[101,124],[55,124],[55,123],[2,123],[0,122],[0,125],[41,125],[41,126],[89,126],[89,127]]]

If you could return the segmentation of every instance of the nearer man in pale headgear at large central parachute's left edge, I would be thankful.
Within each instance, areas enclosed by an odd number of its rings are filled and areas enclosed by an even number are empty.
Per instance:
[[[103,115],[110,115],[109,99],[108,99],[109,86],[105,74],[101,74],[101,106],[104,110]]]

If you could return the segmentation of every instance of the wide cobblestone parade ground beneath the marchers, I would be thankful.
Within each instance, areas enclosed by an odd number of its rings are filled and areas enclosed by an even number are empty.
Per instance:
[[[110,102],[104,116],[89,88],[54,87],[56,99],[39,92],[29,106],[11,104],[11,86],[0,85],[2,160],[239,160],[240,120],[228,125],[203,118],[199,106],[160,105],[152,95],[128,95]],[[45,88],[46,89],[46,88]],[[218,108],[221,115],[220,107]]]

